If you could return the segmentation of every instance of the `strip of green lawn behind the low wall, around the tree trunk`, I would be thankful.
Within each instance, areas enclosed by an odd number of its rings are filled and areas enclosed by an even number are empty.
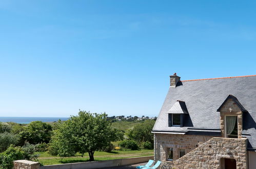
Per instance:
[[[89,161],[88,154],[84,157],[81,157],[80,154],[76,154],[75,157],[56,157],[52,156],[47,152],[37,152],[40,154],[39,162],[43,165],[51,164],[64,164],[64,163],[73,163],[73,162],[86,162]],[[112,160],[112,159],[123,159],[123,158],[132,158],[132,157],[144,157],[152,156],[153,150],[134,150],[134,151],[113,151],[113,152],[95,152],[94,160]]]

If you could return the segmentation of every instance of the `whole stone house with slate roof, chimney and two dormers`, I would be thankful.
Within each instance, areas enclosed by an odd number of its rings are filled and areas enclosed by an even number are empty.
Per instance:
[[[161,168],[256,168],[256,75],[170,76],[154,124]]]

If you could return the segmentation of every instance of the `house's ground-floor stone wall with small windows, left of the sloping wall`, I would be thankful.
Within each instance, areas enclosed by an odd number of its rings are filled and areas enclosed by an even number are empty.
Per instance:
[[[212,136],[155,133],[155,160],[160,160],[163,165],[172,165],[172,161],[166,161],[167,147],[173,148],[173,160],[177,160],[179,149],[185,149],[187,154],[211,138]]]

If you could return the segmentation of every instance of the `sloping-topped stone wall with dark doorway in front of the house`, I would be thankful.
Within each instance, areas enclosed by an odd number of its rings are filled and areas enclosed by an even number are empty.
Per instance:
[[[221,159],[237,161],[237,168],[247,168],[247,139],[214,137],[173,162],[174,168],[221,168]]]

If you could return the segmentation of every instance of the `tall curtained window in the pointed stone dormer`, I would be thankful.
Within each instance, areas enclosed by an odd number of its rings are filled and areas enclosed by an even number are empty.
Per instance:
[[[226,116],[226,137],[238,138],[238,117]]]

